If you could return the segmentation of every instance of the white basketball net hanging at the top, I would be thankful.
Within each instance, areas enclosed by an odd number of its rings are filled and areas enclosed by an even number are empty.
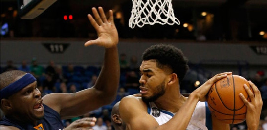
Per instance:
[[[135,25],[141,28],[145,24],[154,25],[155,23],[180,25],[180,21],[174,16],[172,0],[132,0],[132,2],[130,28],[134,28]]]

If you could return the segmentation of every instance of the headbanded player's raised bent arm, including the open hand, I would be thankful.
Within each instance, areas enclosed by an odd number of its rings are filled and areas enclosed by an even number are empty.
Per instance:
[[[59,112],[62,119],[79,116],[101,106],[110,104],[116,98],[119,86],[118,33],[113,21],[113,12],[106,18],[102,7],[92,8],[93,18],[88,15],[98,38],[85,43],[85,46],[99,45],[105,47],[102,70],[96,84],[77,93],[52,93],[43,97],[43,103]]]

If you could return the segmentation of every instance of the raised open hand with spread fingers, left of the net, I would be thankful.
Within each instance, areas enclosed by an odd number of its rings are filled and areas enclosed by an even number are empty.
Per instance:
[[[109,10],[109,19],[106,18],[102,7],[98,7],[98,11],[96,8],[92,8],[92,13],[95,18],[90,14],[88,15],[88,19],[95,28],[98,38],[87,41],[85,46],[99,45],[105,48],[116,46],[119,42],[119,37],[114,24],[113,11]]]

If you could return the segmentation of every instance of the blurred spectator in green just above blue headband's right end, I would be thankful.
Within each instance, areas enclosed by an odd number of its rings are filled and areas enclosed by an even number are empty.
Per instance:
[[[44,67],[38,65],[36,58],[33,58],[32,65],[30,66],[30,71],[36,78],[39,78],[44,74]]]

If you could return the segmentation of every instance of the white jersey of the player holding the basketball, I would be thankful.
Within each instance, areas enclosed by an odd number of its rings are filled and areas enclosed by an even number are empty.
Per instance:
[[[168,122],[175,113],[160,110],[154,102],[148,105],[148,114],[154,117],[159,125]],[[198,102],[186,130],[212,130],[211,114],[207,102]]]

